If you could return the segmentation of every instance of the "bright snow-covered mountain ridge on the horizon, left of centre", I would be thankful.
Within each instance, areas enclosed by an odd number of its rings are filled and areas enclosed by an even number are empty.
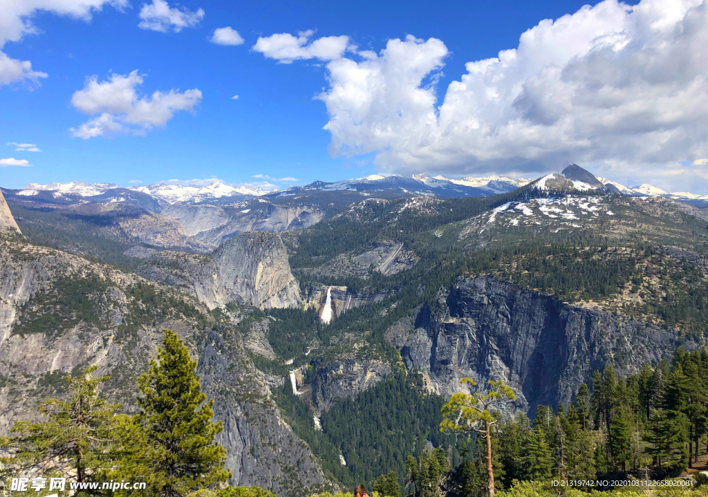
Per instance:
[[[152,197],[165,200],[171,204],[178,202],[205,202],[212,198],[234,197],[236,195],[251,195],[260,197],[269,191],[251,185],[227,185],[223,181],[215,181],[208,185],[156,185],[133,186],[129,190],[147,193]]]

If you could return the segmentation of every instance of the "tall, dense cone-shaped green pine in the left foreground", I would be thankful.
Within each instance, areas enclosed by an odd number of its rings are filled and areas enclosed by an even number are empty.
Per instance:
[[[154,496],[181,497],[227,481],[231,472],[224,469],[226,450],[214,442],[223,426],[211,421],[214,401],[201,392],[196,362],[173,331],[164,331],[162,344],[138,378],[141,411],[122,419],[122,471],[146,481]]]

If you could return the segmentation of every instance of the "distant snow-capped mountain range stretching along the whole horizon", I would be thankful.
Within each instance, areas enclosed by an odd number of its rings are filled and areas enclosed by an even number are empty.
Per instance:
[[[566,171],[571,169],[572,171],[566,174]],[[152,202],[158,202],[162,205],[183,203],[217,203],[224,205],[254,197],[272,196],[277,198],[312,191],[395,192],[437,198],[479,197],[508,193],[534,181],[537,181],[539,187],[543,188],[547,178],[551,178],[553,182],[554,174],[558,178],[563,176],[566,180],[572,181],[573,188],[581,190],[602,188],[603,190],[624,193],[625,195],[673,198],[693,205],[708,205],[708,195],[688,192],[669,193],[646,183],[630,188],[607,178],[596,178],[575,164],[571,164],[571,166],[564,169],[563,173],[552,173],[537,180],[496,175],[451,178],[448,176],[429,176],[428,174],[414,174],[412,176],[372,174],[365,178],[353,178],[331,183],[314,181],[314,183],[305,186],[270,191],[253,185],[227,185],[220,180],[215,180],[206,185],[158,183],[147,186],[132,186],[130,188],[122,188],[113,183],[91,184],[82,181],[72,181],[71,183],[50,183],[48,185],[30,183],[21,190],[5,190],[14,195],[40,195],[42,198],[51,197],[55,201],[66,200],[68,202],[76,200],[81,202],[83,200],[105,203],[130,200],[131,203],[145,204],[145,207],[149,207]],[[573,174],[579,176],[576,177]]]

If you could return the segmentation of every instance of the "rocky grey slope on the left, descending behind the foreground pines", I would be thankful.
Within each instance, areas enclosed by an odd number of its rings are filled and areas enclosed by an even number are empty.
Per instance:
[[[88,298],[66,298],[76,295]],[[57,312],[57,299],[83,303]],[[14,421],[37,419],[38,402],[65,396],[62,377],[88,365],[112,376],[105,396],[135,411],[135,378],[155,357],[164,328],[198,360],[202,389],[224,421],[219,442],[233,484],[283,497],[328,484],[307,444],[280,418],[267,379],[229,322],[215,322],[177,290],[16,237],[0,239],[0,435]]]

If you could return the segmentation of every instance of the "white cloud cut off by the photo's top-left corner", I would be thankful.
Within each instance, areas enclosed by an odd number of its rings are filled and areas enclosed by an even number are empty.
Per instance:
[[[3,0],[0,2],[0,49],[8,41],[18,42],[25,35],[39,33],[32,22],[37,11],[91,21],[93,13],[104,5],[122,9],[129,3],[128,0]],[[0,52],[0,86],[21,81],[39,85],[40,79],[46,77],[45,72],[33,71],[30,61],[13,59]]]

